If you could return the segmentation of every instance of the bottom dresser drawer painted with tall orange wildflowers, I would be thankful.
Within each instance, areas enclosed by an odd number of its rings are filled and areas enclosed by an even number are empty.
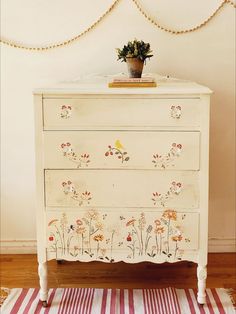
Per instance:
[[[174,262],[198,249],[198,213],[172,209],[47,212],[48,259]]]

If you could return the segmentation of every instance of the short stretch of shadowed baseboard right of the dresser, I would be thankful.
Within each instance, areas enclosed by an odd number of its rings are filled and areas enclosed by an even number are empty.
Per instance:
[[[208,251],[209,253],[236,252],[236,238],[210,238]]]

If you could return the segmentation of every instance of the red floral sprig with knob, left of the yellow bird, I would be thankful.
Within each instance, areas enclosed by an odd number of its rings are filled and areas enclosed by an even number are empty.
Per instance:
[[[88,167],[88,164],[90,163],[89,154],[75,153],[70,142],[62,143],[61,150],[62,150],[63,156],[67,158],[68,160],[70,160],[71,162],[75,163],[77,165],[77,168],[80,168],[82,166]]]

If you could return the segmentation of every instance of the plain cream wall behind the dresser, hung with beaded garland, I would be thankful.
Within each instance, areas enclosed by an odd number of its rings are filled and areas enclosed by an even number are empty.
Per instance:
[[[170,28],[188,28],[206,19],[220,0],[140,0],[143,8]],[[112,0],[2,0],[2,36],[45,45],[88,27]],[[117,73],[115,47],[129,39],[150,42],[154,57],[146,72],[197,81],[214,91],[211,110],[211,250],[233,249],[235,238],[235,10],[226,5],[204,28],[185,35],[157,29],[131,0],[76,43],[49,52],[1,48],[2,210],[1,241],[9,251],[35,245],[34,120],[32,90],[88,73]],[[16,240],[16,242],[14,242]],[[18,248],[17,248],[18,247]],[[28,248],[27,248],[28,247]]]

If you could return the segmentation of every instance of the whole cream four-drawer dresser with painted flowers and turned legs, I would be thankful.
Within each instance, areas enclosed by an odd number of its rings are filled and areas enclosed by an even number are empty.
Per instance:
[[[168,79],[35,92],[44,306],[51,259],[192,261],[205,302],[210,94]]]

